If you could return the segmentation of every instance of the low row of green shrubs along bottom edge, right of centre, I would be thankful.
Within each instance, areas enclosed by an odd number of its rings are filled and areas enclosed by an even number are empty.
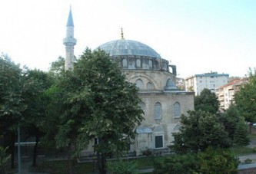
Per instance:
[[[237,173],[238,159],[228,149],[208,147],[204,152],[175,154],[155,160],[155,174],[178,173]]]

